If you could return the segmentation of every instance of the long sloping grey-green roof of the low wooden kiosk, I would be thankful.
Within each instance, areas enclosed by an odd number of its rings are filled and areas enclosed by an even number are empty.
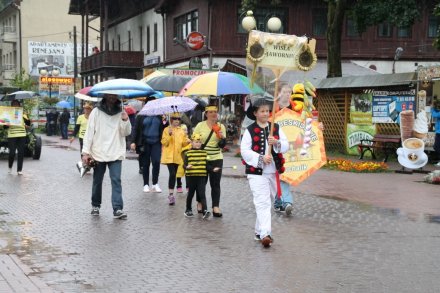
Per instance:
[[[399,85],[409,85],[417,82],[416,72],[363,75],[363,76],[343,76],[321,80],[316,84],[319,89],[337,88],[377,88]]]

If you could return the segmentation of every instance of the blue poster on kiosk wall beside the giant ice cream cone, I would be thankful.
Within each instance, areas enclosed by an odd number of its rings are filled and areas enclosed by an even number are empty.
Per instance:
[[[399,113],[406,110],[416,112],[416,91],[373,92],[373,123],[398,123]]]

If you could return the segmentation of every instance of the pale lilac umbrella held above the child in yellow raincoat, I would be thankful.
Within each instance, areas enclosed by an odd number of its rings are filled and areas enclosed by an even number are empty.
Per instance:
[[[165,97],[149,101],[139,112],[139,115],[156,116],[175,112],[187,112],[196,106],[197,103],[188,97]]]

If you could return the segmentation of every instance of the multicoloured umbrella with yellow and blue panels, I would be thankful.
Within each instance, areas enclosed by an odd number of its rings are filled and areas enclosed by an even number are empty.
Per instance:
[[[239,74],[219,71],[194,77],[182,88],[179,94],[185,96],[224,96],[251,93],[249,83],[246,84],[244,79],[239,77]]]

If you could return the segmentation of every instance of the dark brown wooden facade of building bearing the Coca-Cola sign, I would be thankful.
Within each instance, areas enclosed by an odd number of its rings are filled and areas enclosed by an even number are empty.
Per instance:
[[[163,1],[165,2],[167,1]],[[428,22],[434,2],[423,1],[422,18],[409,29],[409,37],[398,37],[396,27],[391,28],[390,37],[379,37],[378,26],[370,27],[360,36],[348,36],[349,29],[345,25],[341,43],[342,58],[392,61],[396,48],[402,47],[405,53],[400,60],[416,62],[438,60],[440,52],[432,47],[434,38],[428,37]],[[244,56],[247,34],[239,32],[238,29],[243,17],[243,15],[240,17],[239,12],[240,0],[186,0],[174,1],[174,3],[175,5],[166,11],[166,64],[184,61],[192,56],[206,57],[209,54],[228,57]],[[321,17],[316,13],[326,10],[325,2],[322,0],[295,1],[294,3],[283,1],[280,7],[288,11],[284,33],[316,38],[318,58],[327,58],[325,35],[313,34],[314,23],[317,17]],[[193,10],[199,12],[199,32],[207,37],[207,46],[199,51],[191,51],[173,41],[175,19]]]

